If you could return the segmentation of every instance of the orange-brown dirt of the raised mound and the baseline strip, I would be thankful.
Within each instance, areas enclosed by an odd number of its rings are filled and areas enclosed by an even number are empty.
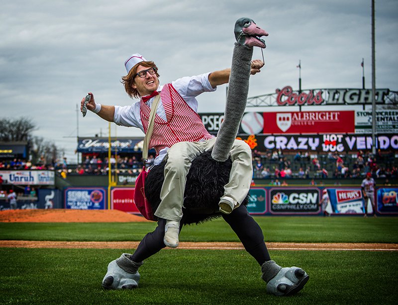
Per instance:
[[[142,216],[118,210],[20,209],[0,211],[0,222],[137,222]],[[10,248],[96,248],[134,249],[138,242],[78,242],[0,240],[0,247]],[[277,243],[267,242],[270,250],[362,250],[398,251],[398,244],[379,243]],[[168,248],[167,248],[168,249]],[[180,242],[177,249],[244,249],[238,242]]]

